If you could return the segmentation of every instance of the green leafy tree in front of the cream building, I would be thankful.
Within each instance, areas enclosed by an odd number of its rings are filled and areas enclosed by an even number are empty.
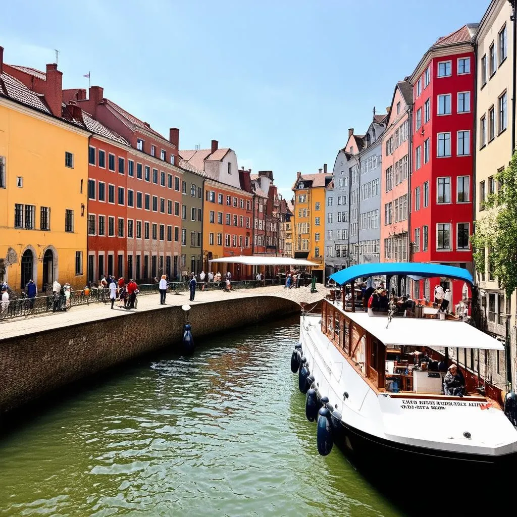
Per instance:
[[[476,231],[470,240],[476,269],[485,271],[485,249],[488,249],[494,275],[510,296],[517,288],[517,151],[495,180],[500,187],[486,199],[486,215],[476,221]]]

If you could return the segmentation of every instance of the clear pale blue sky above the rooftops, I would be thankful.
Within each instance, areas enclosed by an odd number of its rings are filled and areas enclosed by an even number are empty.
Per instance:
[[[237,153],[272,170],[284,195],[296,171],[332,169],[348,128],[385,113],[397,81],[439,37],[477,23],[490,0],[86,0],[7,3],[6,63],[92,85],[180,148]]]

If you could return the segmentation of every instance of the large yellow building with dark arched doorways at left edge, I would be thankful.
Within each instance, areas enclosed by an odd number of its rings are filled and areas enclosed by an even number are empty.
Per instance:
[[[38,292],[57,279],[85,286],[89,132],[58,116],[56,98],[38,95],[3,65],[0,50],[0,280]],[[37,71],[34,71],[36,73]],[[44,72],[38,72],[45,77]],[[53,113],[55,112],[55,113]],[[60,114],[59,114],[60,115]]]

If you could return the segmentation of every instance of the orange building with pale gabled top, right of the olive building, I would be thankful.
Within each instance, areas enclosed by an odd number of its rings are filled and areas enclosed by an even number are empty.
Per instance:
[[[251,255],[253,193],[249,171],[239,171],[230,148],[180,150],[181,159],[205,174],[203,204],[203,269],[217,272],[208,261],[225,256]],[[219,266],[218,266],[219,267]],[[221,269],[223,271],[221,271]],[[234,280],[252,275],[251,268],[222,264]]]

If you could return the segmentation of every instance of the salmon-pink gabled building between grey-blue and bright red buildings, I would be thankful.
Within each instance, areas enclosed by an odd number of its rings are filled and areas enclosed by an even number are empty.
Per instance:
[[[382,144],[381,262],[408,260],[413,87],[408,78],[394,89]]]

